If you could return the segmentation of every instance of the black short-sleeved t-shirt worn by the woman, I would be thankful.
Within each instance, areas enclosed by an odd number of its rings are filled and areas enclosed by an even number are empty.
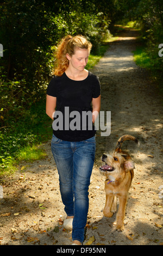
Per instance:
[[[64,141],[84,141],[95,135],[95,127],[90,126],[85,114],[92,112],[92,98],[97,98],[101,94],[96,75],[89,71],[84,80],[74,81],[64,72],[62,76],[52,78],[48,84],[47,94],[57,97],[52,125],[53,134],[57,138]],[[87,116],[90,117],[89,114]]]

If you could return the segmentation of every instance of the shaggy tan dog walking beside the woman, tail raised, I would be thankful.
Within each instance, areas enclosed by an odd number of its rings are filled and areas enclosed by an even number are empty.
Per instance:
[[[116,212],[116,197],[119,198],[119,208],[117,212],[116,229],[123,230],[123,221],[125,207],[127,203],[127,194],[131,181],[134,177],[134,162],[128,153],[122,151],[121,146],[124,141],[132,140],[138,143],[137,139],[130,135],[123,135],[118,139],[116,149],[112,155],[103,155],[102,161],[105,162],[99,170],[106,176],[105,193],[106,202],[103,214],[106,217],[112,217]]]

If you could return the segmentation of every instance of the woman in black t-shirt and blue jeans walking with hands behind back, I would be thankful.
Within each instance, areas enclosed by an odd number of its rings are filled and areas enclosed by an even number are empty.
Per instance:
[[[64,227],[72,229],[73,245],[84,241],[96,148],[95,127],[83,119],[83,114],[91,111],[94,123],[101,105],[98,77],[85,69],[91,47],[84,36],[62,39],[57,48],[55,76],[47,88],[46,113],[55,123],[52,153],[67,214]]]

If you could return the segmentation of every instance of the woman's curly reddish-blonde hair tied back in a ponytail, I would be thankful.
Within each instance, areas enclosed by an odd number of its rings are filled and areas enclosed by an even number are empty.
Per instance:
[[[62,38],[57,51],[55,52],[56,60],[54,75],[62,76],[68,68],[69,60],[66,57],[67,53],[72,56],[76,48],[82,48],[90,51],[91,47],[91,42],[87,41],[87,39],[82,35],[76,35],[74,37],[67,35],[65,38]]]

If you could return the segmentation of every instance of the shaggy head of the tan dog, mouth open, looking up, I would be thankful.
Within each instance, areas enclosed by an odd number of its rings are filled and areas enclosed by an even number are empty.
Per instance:
[[[134,162],[131,161],[128,154],[117,152],[114,152],[112,155],[103,154],[102,161],[105,162],[105,165],[99,168],[101,174],[107,177],[111,176],[113,179],[135,168]]]

